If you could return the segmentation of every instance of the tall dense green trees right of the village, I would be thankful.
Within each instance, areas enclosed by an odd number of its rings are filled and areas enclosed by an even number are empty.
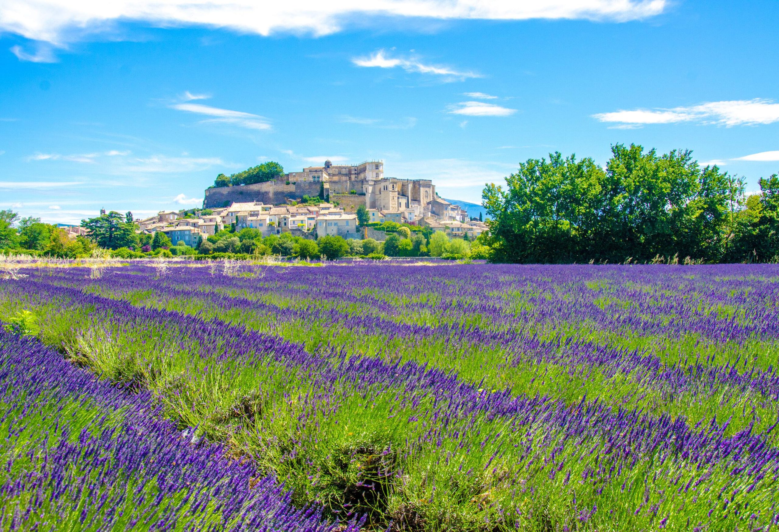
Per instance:
[[[615,144],[591,157],[528,159],[482,193],[495,262],[779,261],[779,177],[701,166],[690,150]]]

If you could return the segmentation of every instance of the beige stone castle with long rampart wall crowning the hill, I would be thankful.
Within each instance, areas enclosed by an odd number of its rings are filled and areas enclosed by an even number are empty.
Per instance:
[[[435,185],[428,179],[397,179],[384,177],[381,160],[366,160],[361,164],[332,164],[303,168],[303,171],[280,175],[273,181],[230,187],[207,188],[204,208],[228,206],[231,203],[262,202],[281,205],[290,199],[318,196],[320,189],[347,210],[359,205],[387,213],[415,212],[417,217],[435,211],[432,203]]]

